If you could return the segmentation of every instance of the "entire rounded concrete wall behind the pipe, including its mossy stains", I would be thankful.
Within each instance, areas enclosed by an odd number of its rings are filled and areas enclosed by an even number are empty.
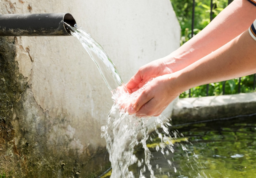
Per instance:
[[[0,0],[0,13],[69,12],[116,64],[124,82],[179,47],[169,0]],[[75,37],[0,37],[0,173],[94,177],[108,165],[100,127],[112,105]],[[3,161],[4,160],[4,161]]]

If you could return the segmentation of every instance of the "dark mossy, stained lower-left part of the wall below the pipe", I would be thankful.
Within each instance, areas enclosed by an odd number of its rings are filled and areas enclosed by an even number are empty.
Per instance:
[[[13,178],[97,177],[110,166],[106,148],[89,146],[90,155],[78,154],[68,150],[65,134],[56,135],[60,143],[49,144],[53,125],[65,130],[72,121],[66,116],[52,118],[36,103],[19,73],[15,41],[0,37],[0,173]]]

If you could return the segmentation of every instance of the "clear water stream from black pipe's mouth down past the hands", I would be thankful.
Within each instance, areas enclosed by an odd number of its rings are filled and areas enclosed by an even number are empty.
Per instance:
[[[112,99],[114,104],[108,113],[107,125],[101,127],[101,137],[106,139],[109,160],[112,166],[111,178],[135,177],[134,173],[129,170],[129,167],[133,164],[137,164],[140,168],[138,175],[140,178],[145,178],[144,173],[147,171],[150,174],[150,178],[155,178],[153,167],[150,164],[152,154],[146,144],[148,139],[152,139],[149,137],[148,128],[146,126],[149,117],[139,118],[135,115],[129,115],[124,109],[121,109],[121,105],[124,101],[129,102],[136,98],[148,83],[141,86],[139,90],[130,95],[125,89],[115,65],[109,59],[100,44],[92,39],[91,35],[85,32],[81,27],[75,25],[75,27],[69,26],[68,28],[72,35],[79,39],[92,60],[96,63],[104,81],[113,94]],[[160,151],[163,156],[174,152],[172,140],[178,137],[177,133],[172,133],[172,136],[169,133],[168,127],[171,125],[168,121],[169,119],[161,116],[155,118],[155,131],[158,138],[161,139],[161,143],[157,145],[155,149],[156,151]],[[158,127],[163,131],[159,132]],[[144,159],[141,160],[134,154],[134,147],[140,144],[145,154]],[[182,149],[186,151],[185,146],[183,146]],[[166,164],[169,165],[170,172],[177,171],[173,160],[166,160]],[[156,169],[161,172],[161,167],[158,165],[156,165]],[[161,172],[161,174],[166,174],[168,177],[170,175],[169,172]]]

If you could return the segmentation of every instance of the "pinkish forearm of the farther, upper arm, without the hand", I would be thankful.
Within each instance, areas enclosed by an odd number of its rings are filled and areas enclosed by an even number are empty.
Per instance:
[[[233,1],[201,32],[171,53],[167,65],[176,72],[217,50],[244,32],[255,20],[255,13],[256,7],[247,0]],[[174,61],[179,65],[173,66]]]

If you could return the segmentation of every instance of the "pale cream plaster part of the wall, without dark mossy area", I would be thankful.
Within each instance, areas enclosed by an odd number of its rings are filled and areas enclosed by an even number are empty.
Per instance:
[[[0,5],[1,13],[71,13],[103,46],[124,82],[143,64],[179,47],[180,26],[170,0],[0,0]],[[111,93],[80,42],[72,36],[17,37],[16,47],[19,71],[31,91],[23,107],[27,116],[44,119],[48,149],[90,156],[104,147],[100,127],[106,124]],[[32,123],[31,134],[43,130]]]

